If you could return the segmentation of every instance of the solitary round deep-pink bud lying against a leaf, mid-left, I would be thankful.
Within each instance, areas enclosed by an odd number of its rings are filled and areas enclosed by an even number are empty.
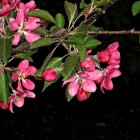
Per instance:
[[[49,82],[54,81],[57,78],[57,73],[52,68],[48,68],[42,72],[42,77],[46,81],[49,81]]]

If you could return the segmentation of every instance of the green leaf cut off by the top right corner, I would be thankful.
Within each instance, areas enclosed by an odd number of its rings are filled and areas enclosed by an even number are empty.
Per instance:
[[[132,5],[133,16],[136,16],[138,13],[140,13],[140,1],[136,1]]]

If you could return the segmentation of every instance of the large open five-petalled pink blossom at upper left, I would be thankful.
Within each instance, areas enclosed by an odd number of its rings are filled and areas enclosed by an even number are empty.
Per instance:
[[[23,3],[20,3],[19,5],[20,9],[17,12],[16,19],[10,18],[10,26],[13,31],[17,31],[17,33],[14,35],[12,44],[17,45],[20,41],[20,37],[22,34],[24,34],[25,39],[32,43],[38,39],[40,39],[40,35],[32,32],[36,28],[40,26],[38,22],[40,22],[39,18],[36,17],[28,17],[25,18],[25,10],[26,7],[23,5]]]

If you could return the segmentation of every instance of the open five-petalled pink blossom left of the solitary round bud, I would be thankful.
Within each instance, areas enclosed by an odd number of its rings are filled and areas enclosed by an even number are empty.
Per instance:
[[[22,85],[28,90],[33,90],[35,88],[35,84],[28,79],[28,77],[34,75],[37,72],[37,69],[34,66],[29,66],[28,60],[22,60],[19,63],[17,70],[17,72],[12,73],[12,80],[15,82],[18,80],[17,90],[22,92]]]

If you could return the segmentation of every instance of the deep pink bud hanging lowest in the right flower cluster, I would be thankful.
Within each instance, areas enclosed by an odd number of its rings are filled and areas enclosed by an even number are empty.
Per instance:
[[[77,94],[77,99],[79,101],[85,101],[88,99],[88,93],[84,91],[83,89],[79,89],[78,94]]]

